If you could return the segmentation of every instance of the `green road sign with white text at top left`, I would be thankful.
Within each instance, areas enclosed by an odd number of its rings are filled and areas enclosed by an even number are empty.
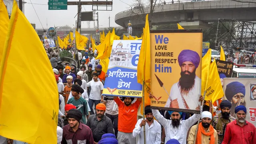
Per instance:
[[[48,10],[67,10],[68,0],[48,0]]]

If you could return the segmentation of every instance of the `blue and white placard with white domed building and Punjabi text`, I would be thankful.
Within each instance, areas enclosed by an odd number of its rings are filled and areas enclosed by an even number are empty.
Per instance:
[[[102,95],[142,97],[137,82],[137,65],[141,40],[114,40]]]

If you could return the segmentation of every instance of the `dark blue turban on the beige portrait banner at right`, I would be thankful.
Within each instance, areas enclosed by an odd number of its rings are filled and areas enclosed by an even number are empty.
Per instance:
[[[242,93],[245,96],[245,86],[240,82],[231,82],[226,86],[225,96],[231,101],[233,96]]]

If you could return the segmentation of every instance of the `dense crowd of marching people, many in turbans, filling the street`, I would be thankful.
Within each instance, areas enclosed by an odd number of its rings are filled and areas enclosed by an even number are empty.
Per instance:
[[[51,64],[56,62],[53,55]],[[82,57],[79,68],[69,63],[52,65],[59,92],[58,144],[144,144],[144,139],[146,144],[256,144],[256,128],[246,121],[246,107],[229,100],[202,104],[200,96],[202,106],[196,110],[202,110],[201,114],[146,106],[146,118],[138,119],[142,98],[102,95],[108,74],[94,56],[94,52],[78,56],[78,60]],[[25,144],[7,138],[4,142]]]

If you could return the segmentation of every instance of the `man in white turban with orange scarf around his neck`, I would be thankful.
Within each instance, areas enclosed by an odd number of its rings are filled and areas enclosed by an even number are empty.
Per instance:
[[[204,111],[202,112],[201,119],[202,122],[199,123],[196,136],[196,144],[218,144],[218,134],[211,125],[212,114],[208,111]],[[190,128],[188,144],[194,143],[196,127],[197,125],[194,125]]]

